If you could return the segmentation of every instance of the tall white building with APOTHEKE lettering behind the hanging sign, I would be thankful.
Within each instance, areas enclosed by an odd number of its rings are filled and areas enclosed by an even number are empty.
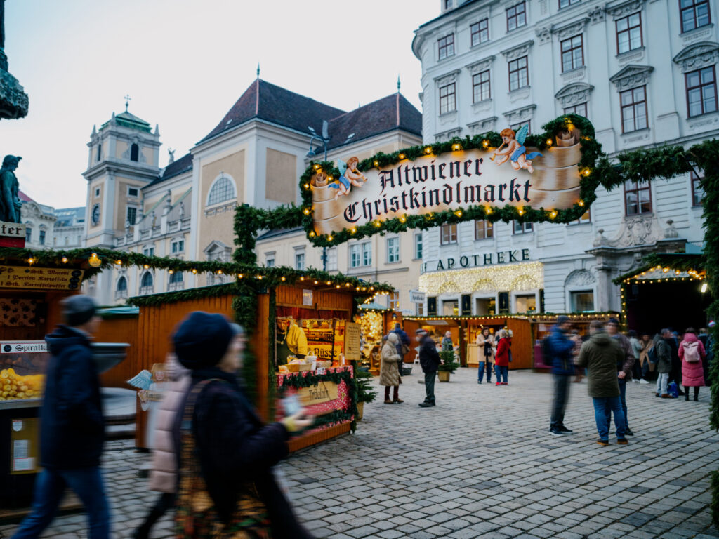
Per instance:
[[[603,151],[719,134],[715,0],[442,0],[416,30],[423,139],[586,116]],[[699,174],[701,171],[697,171]],[[572,224],[485,221],[425,231],[427,313],[621,310],[611,282],[650,252],[700,252],[695,175],[599,188]]]

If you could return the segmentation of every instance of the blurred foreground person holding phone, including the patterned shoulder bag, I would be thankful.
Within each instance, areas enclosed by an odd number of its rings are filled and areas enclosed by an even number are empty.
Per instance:
[[[288,455],[290,434],[313,421],[302,410],[280,423],[262,423],[237,377],[244,331],[224,316],[191,313],[174,341],[178,361],[192,371],[173,425],[178,537],[310,537],[273,466]]]

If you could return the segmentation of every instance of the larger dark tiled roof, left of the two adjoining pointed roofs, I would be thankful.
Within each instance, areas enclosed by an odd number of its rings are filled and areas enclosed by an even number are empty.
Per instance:
[[[319,133],[322,120],[329,121],[340,114],[344,114],[344,111],[258,78],[244,91],[215,129],[200,142],[252,118],[270,121],[303,133],[307,132],[308,126],[312,126]]]

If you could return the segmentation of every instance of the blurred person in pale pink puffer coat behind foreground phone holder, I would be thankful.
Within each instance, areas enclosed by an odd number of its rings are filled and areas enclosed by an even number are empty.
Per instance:
[[[147,539],[150,528],[175,505],[177,492],[178,460],[173,443],[173,425],[175,415],[182,405],[183,398],[190,387],[190,371],[180,365],[175,354],[168,354],[165,359],[165,374],[170,380],[167,390],[162,395],[160,410],[157,410],[155,423],[155,448],[152,453],[152,470],[150,471],[150,490],[161,492],[155,506],[145,518],[145,522],[135,530],[135,539]]]

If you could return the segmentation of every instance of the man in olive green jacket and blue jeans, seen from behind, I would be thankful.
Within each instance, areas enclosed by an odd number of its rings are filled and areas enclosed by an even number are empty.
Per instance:
[[[626,423],[622,402],[619,397],[617,364],[623,361],[624,352],[608,333],[600,321],[590,324],[591,337],[582,344],[577,364],[589,369],[587,392],[594,402],[594,415],[600,446],[609,445],[610,412],[614,413],[614,425],[617,428],[617,443],[626,445]]]

